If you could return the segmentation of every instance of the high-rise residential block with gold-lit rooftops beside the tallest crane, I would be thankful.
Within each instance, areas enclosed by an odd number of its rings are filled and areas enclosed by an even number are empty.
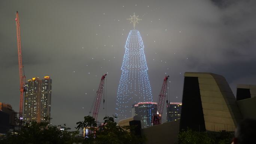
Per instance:
[[[24,121],[45,121],[51,117],[52,79],[34,77],[26,83],[27,92],[24,97]]]

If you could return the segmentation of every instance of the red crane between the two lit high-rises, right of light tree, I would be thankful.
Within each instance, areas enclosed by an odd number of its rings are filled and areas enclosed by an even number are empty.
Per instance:
[[[165,97],[167,95],[167,80],[169,76],[165,76],[162,89],[160,91],[157,103],[157,113],[152,117],[152,125],[159,125],[162,123],[162,114],[164,110]]]

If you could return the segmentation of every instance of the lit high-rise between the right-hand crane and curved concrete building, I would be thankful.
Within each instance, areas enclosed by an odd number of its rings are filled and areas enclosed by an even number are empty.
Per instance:
[[[181,102],[170,102],[167,104],[166,108],[166,121],[171,122],[180,119],[180,114],[182,110]]]

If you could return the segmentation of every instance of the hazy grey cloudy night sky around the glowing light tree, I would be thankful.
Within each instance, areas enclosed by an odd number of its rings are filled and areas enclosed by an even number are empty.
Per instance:
[[[0,102],[19,111],[17,10],[25,75],[51,76],[51,122],[74,128],[88,115],[105,73],[107,115],[114,114],[133,13],[142,19],[136,29],[154,102],[165,75],[170,102],[181,102],[186,71],[220,74],[234,94],[237,84],[256,84],[255,7],[255,0],[1,0]],[[105,114],[101,107],[98,120]]]

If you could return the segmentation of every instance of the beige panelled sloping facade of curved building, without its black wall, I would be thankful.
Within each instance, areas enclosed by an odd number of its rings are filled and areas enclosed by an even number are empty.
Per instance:
[[[198,78],[205,130],[235,131],[242,116],[226,79],[218,74],[194,72],[186,72],[185,77]]]

